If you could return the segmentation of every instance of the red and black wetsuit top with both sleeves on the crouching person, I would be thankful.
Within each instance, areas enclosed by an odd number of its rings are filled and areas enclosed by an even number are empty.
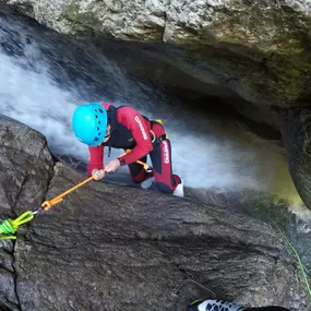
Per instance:
[[[153,149],[149,134],[151,121],[137,110],[129,106],[116,108],[108,103],[101,103],[108,113],[111,125],[111,136],[105,145],[115,148],[131,149],[119,157],[121,165],[129,165],[144,157]],[[104,145],[88,146],[89,163],[87,172],[91,176],[94,168],[104,168]]]

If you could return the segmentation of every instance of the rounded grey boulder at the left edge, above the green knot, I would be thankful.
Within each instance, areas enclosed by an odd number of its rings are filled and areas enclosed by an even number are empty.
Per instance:
[[[40,204],[53,160],[46,139],[14,120],[0,118],[0,208],[15,213]]]

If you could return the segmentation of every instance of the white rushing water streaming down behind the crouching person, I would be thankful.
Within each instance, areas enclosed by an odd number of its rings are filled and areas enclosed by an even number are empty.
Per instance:
[[[285,169],[283,151],[255,139],[234,120],[176,108],[178,106],[169,105],[170,99],[164,95],[159,105],[158,94],[127,79],[122,69],[104,56],[96,59],[89,56],[92,62],[97,62],[98,70],[109,76],[100,81],[100,96],[89,96],[86,88],[93,82],[85,79],[79,84],[68,81],[68,88],[61,87],[50,63],[61,67],[59,62],[63,60],[56,56],[48,59],[41,53],[43,45],[50,51],[58,49],[49,43],[49,37],[45,36],[43,44],[34,39],[34,31],[23,24],[3,20],[3,16],[0,22],[0,113],[45,134],[53,151],[87,160],[87,148],[71,131],[72,112],[87,100],[111,100],[117,106],[132,105],[148,117],[163,119],[172,144],[174,170],[183,177],[187,186],[252,188],[297,196]],[[10,41],[12,38],[14,43]],[[8,52],[8,46],[12,49],[16,44],[19,51]],[[68,63],[69,58],[67,55]],[[81,64],[80,70],[87,75],[86,65]],[[115,151],[112,155],[120,153]]]

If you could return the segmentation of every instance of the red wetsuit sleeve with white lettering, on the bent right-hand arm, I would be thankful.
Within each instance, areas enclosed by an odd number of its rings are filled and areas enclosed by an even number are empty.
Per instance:
[[[130,153],[119,157],[121,165],[129,165],[153,149],[149,130],[142,115],[132,107],[119,109],[118,121],[132,132],[136,142],[135,147]]]

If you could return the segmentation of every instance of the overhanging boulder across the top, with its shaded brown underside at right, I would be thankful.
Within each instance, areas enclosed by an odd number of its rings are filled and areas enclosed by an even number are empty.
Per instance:
[[[307,1],[0,2],[60,33],[157,43],[146,52],[207,91],[227,87],[255,105],[288,107],[310,100]]]

